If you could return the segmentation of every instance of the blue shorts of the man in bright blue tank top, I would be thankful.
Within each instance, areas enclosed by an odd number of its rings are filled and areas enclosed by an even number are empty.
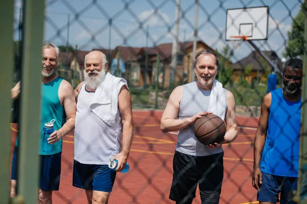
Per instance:
[[[262,171],[262,185],[257,192],[257,201],[278,202],[280,193],[280,204],[295,204],[292,201],[292,192],[297,189],[297,177],[284,177],[271,175]]]

